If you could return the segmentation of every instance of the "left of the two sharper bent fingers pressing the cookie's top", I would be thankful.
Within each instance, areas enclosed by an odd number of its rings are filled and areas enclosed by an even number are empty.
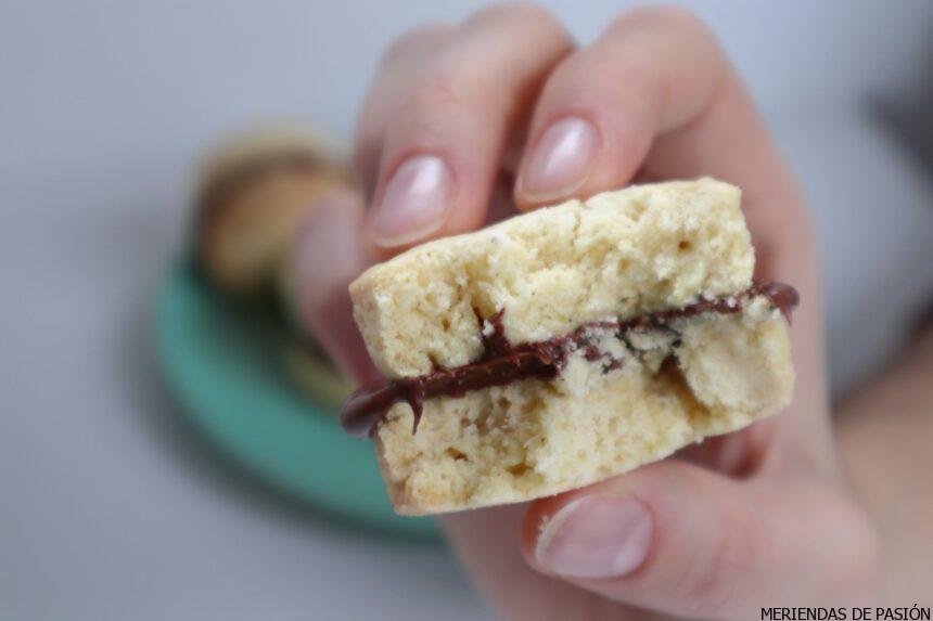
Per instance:
[[[513,129],[570,40],[542,10],[506,4],[401,48],[376,79],[356,141],[361,176],[378,154],[363,183],[373,187],[367,236],[381,256],[482,224]]]

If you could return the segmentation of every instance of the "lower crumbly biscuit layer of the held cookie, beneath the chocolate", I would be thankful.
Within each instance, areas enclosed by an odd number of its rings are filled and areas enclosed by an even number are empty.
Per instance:
[[[609,373],[574,357],[555,380],[427,400],[416,435],[411,409],[396,403],[373,438],[395,509],[424,515],[563,492],[777,413],[793,371],[783,319],[763,306],[676,322],[679,347],[621,352]]]

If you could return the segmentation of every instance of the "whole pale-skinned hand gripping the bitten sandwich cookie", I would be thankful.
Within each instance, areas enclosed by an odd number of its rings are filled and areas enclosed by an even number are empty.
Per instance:
[[[588,44],[527,4],[419,28],[386,51],[354,148],[363,195],[321,198],[294,262],[308,328],[360,380],[379,375],[346,285],[368,264],[514,205],[632,181],[706,174],[741,186],[757,274],[801,293],[796,392],[780,415],[586,489],[443,518],[500,616],[750,619],[768,606],[923,595],[933,336],[833,418],[803,198],[695,17],[626,12]]]

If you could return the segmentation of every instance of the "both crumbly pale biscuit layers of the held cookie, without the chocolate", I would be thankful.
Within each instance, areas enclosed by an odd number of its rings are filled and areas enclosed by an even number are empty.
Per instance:
[[[754,254],[740,193],[710,179],[640,185],[513,218],[414,248],[350,286],[357,322],[388,378],[482,355],[504,310],[512,344],[602,320],[680,308],[747,289]],[[593,328],[606,358],[571,353],[554,379],[526,378],[406,402],[373,440],[398,513],[527,501],[663,458],[739,429],[790,401],[787,327],[767,296],[670,329]]]

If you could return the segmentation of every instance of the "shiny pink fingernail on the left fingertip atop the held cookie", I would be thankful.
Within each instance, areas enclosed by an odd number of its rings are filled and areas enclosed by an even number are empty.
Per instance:
[[[384,248],[417,242],[440,229],[447,219],[453,180],[435,155],[405,161],[388,181],[375,208],[372,236]]]

